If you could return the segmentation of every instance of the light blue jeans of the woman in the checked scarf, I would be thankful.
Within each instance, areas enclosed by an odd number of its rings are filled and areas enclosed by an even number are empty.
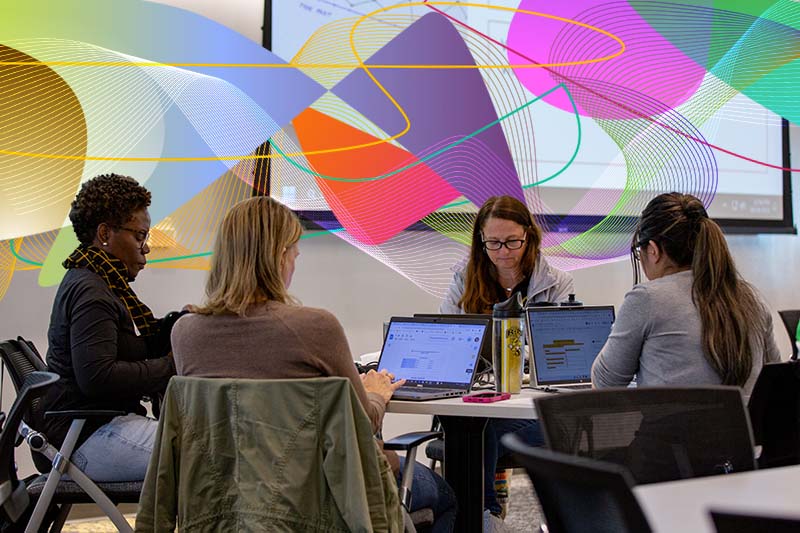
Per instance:
[[[72,462],[95,481],[141,481],[153,453],[158,421],[128,414],[100,426]]]

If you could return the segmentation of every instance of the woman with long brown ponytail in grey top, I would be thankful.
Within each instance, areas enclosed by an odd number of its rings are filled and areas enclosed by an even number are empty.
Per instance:
[[[749,397],[780,359],[772,317],[733,263],[702,202],[661,194],[633,235],[633,289],[592,367],[596,387],[735,385]],[[640,269],[649,281],[641,282]]]

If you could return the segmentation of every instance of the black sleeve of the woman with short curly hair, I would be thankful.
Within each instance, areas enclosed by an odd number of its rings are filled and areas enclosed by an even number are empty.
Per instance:
[[[140,398],[163,391],[175,374],[172,357],[146,359],[147,345],[141,354],[119,357],[119,308],[108,298],[86,292],[76,295],[70,319],[70,348],[75,379],[87,397],[114,396]],[[138,359],[138,360],[131,360]]]

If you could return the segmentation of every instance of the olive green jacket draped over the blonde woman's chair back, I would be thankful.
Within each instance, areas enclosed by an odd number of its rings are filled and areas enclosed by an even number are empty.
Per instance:
[[[136,531],[176,523],[180,531],[403,529],[394,476],[345,378],[172,378]]]

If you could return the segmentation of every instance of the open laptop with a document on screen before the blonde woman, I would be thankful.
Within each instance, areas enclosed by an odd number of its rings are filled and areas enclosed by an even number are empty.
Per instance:
[[[436,400],[469,393],[490,331],[487,320],[392,317],[378,360],[379,371],[406,380],[392,398]]]

